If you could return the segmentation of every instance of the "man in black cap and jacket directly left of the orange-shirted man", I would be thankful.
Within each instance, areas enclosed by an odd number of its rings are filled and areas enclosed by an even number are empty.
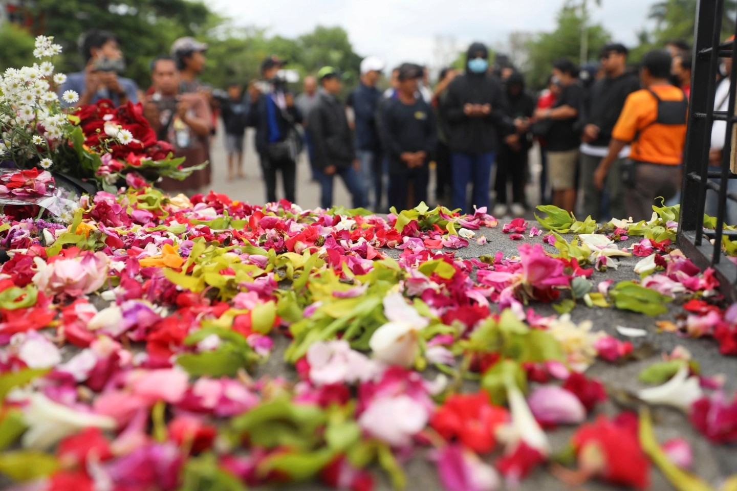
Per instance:
[[[612,162],[607,173],[604,189],[608,196],[609,211],[602,206],[603,193],[594,183],[594,172],[601,159],[609,153],[612,130],[622,112],[624,101],[630,93],[640,90],[640,80],[635,74],[626,71],[627,49],[621,44],[607,44],[601,49],[601,68],[604,78],[596,80],[581,111],[581,188],[584,191],[584,216],[598,220],[625,218],[624,184],[622,183],[622,163],[629,155],[625,147]],[[605,216],[606,215],[606,216]]]

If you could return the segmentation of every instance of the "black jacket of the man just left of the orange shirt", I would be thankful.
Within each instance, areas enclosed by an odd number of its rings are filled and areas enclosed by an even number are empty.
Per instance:
[[[581,108],[581,123],[595,124],[599,127],[599,135],[592,146],[609,146],[612,130],[624,107],[624,101],[630,93],[640,90],[640,80],[635,74],[625,73],[610,79],[596,80],[584,99]],[[581,129],[583,128],[581,126]]]

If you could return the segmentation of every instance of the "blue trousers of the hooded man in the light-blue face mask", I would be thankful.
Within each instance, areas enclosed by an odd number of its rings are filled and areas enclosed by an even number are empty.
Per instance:
[[[471,205],[478,208],[489,207],[489,188],[492,180],[492,166],[495,153],[467,154],[453,153],[451,174],[453,175],[453,199],[451,208],[461,208],[461,213],[472,211],[468,208],[466,190],[473,183]]]

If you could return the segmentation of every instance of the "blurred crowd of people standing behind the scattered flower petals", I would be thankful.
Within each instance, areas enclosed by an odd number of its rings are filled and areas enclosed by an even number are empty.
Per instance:
[[[80,41],[85,68],[70,74],[60,90],[80,93],[80,104],[142,102],[159,138],[189,164],[209,160],[222,119],[228,180],[245,177],[245,130],[254,128],[269,202],[298,199],[302,152],[321,187],[322,208],[333,205],[336,176],[354,208],[379,212],[425,201],[523,216],[531,202],[551,202],[594,219],[645,219],[657,197],[678,199],[691,91],[691,53],[680,41],[648,52],[637,66],[628,63],[620,43],[604,46],[595,64],[558,60],[537,94],[506,57],[491,63],[483,43],[469,46],[463,69],[442,70],[434,88],[427,68],[402,63],[382,91],[387,67],[370,56],[344,100],[345,76],[338,68],[324,66],[305,77],[304,91],[294,95],[284,77],[287,61],[276,56],[262,61],[260,80],[213,91],[199,80],[207,48],[194,38],[176,40],[169,54],[151,62],[150,88],[140,91],[120,75],[125,63],[115,35],[91,31]],[[722,67],[722,77],[729,68]],[[715,108],[727,107],[729,95],[724,77]],[[715,163],[724,146],[718,134],[715,124]],[[529,165],[534,148],[542,163],[535,174]],[[528,197],[533,175],[539,176],[539,196]],[[195,192],[209,184],[210,170],[203,169],[161,187]]]

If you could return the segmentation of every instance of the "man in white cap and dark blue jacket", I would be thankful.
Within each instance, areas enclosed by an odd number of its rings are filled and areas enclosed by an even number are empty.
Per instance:
[[[361,61],[360,85],[350,97],[356,124],[356,155],[361,163],[366,205],[374,211],[382,208],[383,172],[381,143],[376,121],[381,92],[376,88],[384,62],[369,56]]]

